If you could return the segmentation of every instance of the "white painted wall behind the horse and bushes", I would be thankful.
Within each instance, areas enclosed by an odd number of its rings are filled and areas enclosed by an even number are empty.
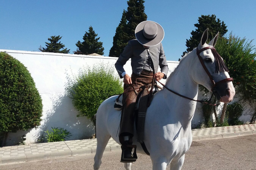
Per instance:
[[[99,63],[105,63],[109,67],[114,67],[116,57],[89,56],[76,54],[61,54],[49,52],[31,52],[4,50],[11,56],[22,62],[33,77],[36,87],[43,101],[43,116],[41,125],[35,129],[28,131],[18,131],[17,133],[9,133],[7,145],[15,145],[26,134],[26,143],[36,142],[51,127],[61,127],[72,133],[68,140],[86,139],[94,133],[91,121],[86,117],[77,118],[77,111],[72,105],[72,100],[66,95],[65,84],[68,83],[66,76],[77,74],[80,68],[87,68]],[[170,74],[179,62],[167,61]],[[131,74],[131,62],[127,61],[124,66],[126,72]],[[71,73],[72,71],[72,73]],[[115,71],[116,76],[117,72]],[[162,80],[164,83],[165,81]],[[202,99],[202,95],[198,95],[198,99]],[[248,121],[250,117],[244,116],[242,120]],[[196,127],[203,121],[201,104],[197,104],[196,112],[192,120],[192,127]],[[45,134],[44,134],[45,135]]]

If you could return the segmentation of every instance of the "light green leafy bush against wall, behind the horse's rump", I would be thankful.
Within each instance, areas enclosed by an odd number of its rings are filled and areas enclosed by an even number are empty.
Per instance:
[[[67,85],[67,90],[74,107],[79,112],[77,117],[86,116],[94,125],[94,115],[100,104],[110,96],[123,93],[120,78],[115,76],[114,68],[108,65],[94,65],[92,68],[80,70],[74,80],[68,78],[72,83]]]

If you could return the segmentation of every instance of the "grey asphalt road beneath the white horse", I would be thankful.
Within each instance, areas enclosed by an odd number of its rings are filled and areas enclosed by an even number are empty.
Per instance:
[[[256,135],[195,141],[182,170],[256,170]],[[124,170],[120,151],[104,153],[101,170]],[[94,155],[0,166],[0,170],[93,170]],[[132,170],[150,170],[149,156],[138,154]],[[169,170],[170,167],[168,166]]]

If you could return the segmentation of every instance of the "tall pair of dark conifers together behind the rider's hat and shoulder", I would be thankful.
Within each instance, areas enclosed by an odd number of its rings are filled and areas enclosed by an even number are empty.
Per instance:
[[[113,38],[113,46],[109,51],[109,56],[119,57],[129,40],[135,39],[135,29],[139,23],[147,20],[145,14],[144,0],[127,1],[127,11],[123,12],[120,24],[116,28]]]

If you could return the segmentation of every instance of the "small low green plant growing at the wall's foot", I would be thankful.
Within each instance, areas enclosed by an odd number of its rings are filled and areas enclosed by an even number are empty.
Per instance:
[[[46,139],[48,142],[59,142],[59,141],[65,141],[66,137],[72,136],[67,129],[64,130],[64,128],[52,128],[52,131],[49,132],[49,130],[45,131],[47,133]]]

